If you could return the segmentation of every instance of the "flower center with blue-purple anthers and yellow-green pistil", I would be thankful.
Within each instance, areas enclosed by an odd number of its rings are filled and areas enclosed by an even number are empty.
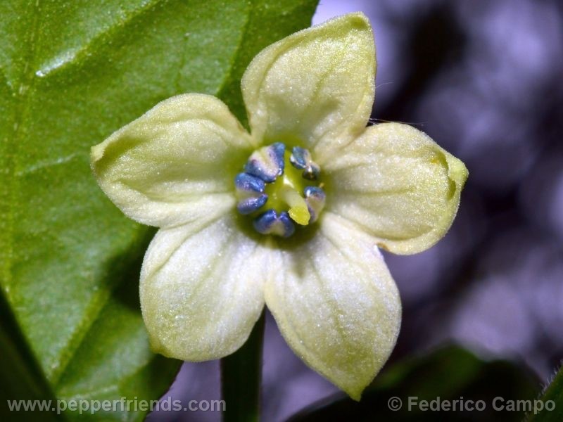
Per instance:
[[[319,218],[325,200],[319,176],[308,150],[272,143],[254,151],[236,175],[236,209],[253,217],[259,233],[289,237],[296,224],[307,226]]]

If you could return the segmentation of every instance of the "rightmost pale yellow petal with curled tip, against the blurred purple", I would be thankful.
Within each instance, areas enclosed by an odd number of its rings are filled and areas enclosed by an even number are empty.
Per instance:
[[[327,209],[400,254],[430,248],[444,236],[468,174],[429,136],[400,123],[368,127],[323,170]]]

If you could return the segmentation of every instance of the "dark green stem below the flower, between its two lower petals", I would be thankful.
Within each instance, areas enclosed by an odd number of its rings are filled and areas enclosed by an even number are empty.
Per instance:
[[[223,422],[258,422],[265,313],[262,312],[246,343],[221,359]]]

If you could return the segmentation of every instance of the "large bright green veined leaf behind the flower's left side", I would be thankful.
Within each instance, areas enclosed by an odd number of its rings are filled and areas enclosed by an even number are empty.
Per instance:
[[[315,5],[0,2],[0,285],[37,385],[58,399],[165,391],[179,362],[150,352],[138,303],[153,231],[103,195],[89,148],[182,92],[219,95],[243,119],[246,65],[308,26]]]

